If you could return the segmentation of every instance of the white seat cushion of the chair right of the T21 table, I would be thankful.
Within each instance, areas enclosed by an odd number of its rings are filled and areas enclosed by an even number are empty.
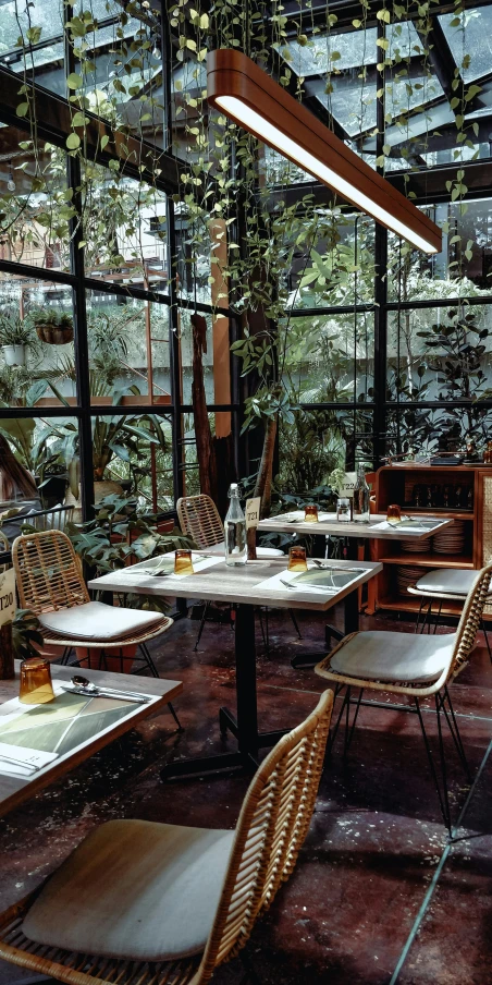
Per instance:
[[[330,670],[365,681],[435,681],[448,664],[455,633],[423,636],[374,631],[357,633],[333,654]]]

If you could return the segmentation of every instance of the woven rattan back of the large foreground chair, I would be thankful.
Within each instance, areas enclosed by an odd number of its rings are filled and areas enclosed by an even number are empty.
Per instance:
[[[259,912],[291,874],[306,838],[321,776],[333,692],[274,746],[246,793],[216,921],[193,985],[202,985],[246,944]]]

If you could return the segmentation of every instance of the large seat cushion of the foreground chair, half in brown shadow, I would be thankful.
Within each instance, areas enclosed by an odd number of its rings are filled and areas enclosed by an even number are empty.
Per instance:
[[[171,961],[207,943],[234,831],[110,820],[46,884],[23,931],[111,958]]]

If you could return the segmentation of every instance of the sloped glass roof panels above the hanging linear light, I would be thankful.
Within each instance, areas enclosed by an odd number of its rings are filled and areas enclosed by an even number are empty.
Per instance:
[[[421,40],[411,21],[386,25],[385,57],[392,64],[386,69],[385,144],[391,148],[392,169],[402,160],[407,161],[405,167],[416,160],[425,167],[430,159],[435,163],[463,159],[454,112],[443,88],[445,85],[450,92],[459,74],[465,85],[476,80],[480,84],[467,100],[467,137],[475,150],[468,147],[466,157],[492,156],[492,5],[467,10],[459,17],[442,14],[434,20],[443,29],[448,57],[433,44],[432,33],[427,42]],[[430,54],[425,47],[430,48]],[[376,65],[382,56],[377,28],[319,34],[305,45],[290,40],[279,50],[296,75],[305,80],[307,96],[317,99],[347,137],[357,142],[359,153],[374,155]],[[438,58],[444,63],[438,63],[433,72]],[[316,104],[310,109],[316,113]],[[477,133],[471,130],[473,120],[479,124]]]

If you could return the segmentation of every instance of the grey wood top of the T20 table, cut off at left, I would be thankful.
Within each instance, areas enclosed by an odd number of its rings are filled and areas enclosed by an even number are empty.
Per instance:
[[[12,720],[10,720],[9,723],[7,722],[7,710],[3,713],[5,721],[2,723],[2,710],[5,702],[19,697],[19,667],[20,664],[16,661],[15,680],[0,680],[0,741],[9,742],[14,745],[28,745],[30,743],[32,746],[34,746],[34,739],[28,739],[25,743],[19,741],[21,729],[17,734],[14,735],[14,723]],[[76,669],[77,668],[74,667],[61,667],[59,664],[53,664],[51,666],[53,686],[56,681],[69,682]],[[54,742],[54,744],[63,749],[63,745],[60,746],[61,740],[58,735],[54,735],[53,738],[53,730],[57,731],[57,728],[61,732],[61,739],[64,742],[64,749],[66,751],[61,752],[52,763],[38,769],[29,777],[26,776],[21,779],[19,777],[0,774],[0,816],[12,811],[14,807],[17,807],[23,801],[34,796],[34,794],[38,793],[44,787],[47,787],[63,774],[69,773],[75,766],[78,766],[84,759],[88,759],[93,753],[102,749],[104,745],[108,745],[113,739],[130,731],[130,729],[132,729],[142,718],[158,712],[183,691],[181,681],[167,681],[158,678],[137,677],[136,674],[110,673],[109,671],[86,670],[85,668],[81,672],[88,680],[94,681],[98,686],[115,688],[119,691],[139,692],[142,694],[150,695],[151,701],[146,704],[131,704],[130,702],[116,702],[112,698],[86,698],[84,706],[82,707],[82,700],[78,695],[66,693],[64,701],[65,698],[72,700],[74,705],[73,708],[62,707],[61,702],[58,702],[57,706],[57,698],[54,702],[49,702],[49,704],[46,705],[30,705],[30,707],[27,705],[20,706],[20,714],[21,708],[26,715],[30,713],[29,719],[26,718],[26,729],[28,729],[30,735],[34,735],[36,729],[39,730],[40,728],[45,728],[42,747],[46,751],[51,751],[50,742],[47,741],[48,739],[51,741],[51,744]],[[78,707],[76,707],[77,703]],[[93,708],[95,708],[94,713]],[[52,722],[50,725],[37,725],[35,716],[37,715],[39,718],[40,709],[46,709],[47,712],[51,710]],[[11,719],[11,716],[9,716],[9,718]],[[72,744],[67,740],[69,728],[65,726],[66,722],[74,723],[75,721],[77,722],[77,734]],[[63,725],[61,725],[61,722],[63,722]],[[71,725],[70,728],[72,727],[73,726]],[[22,731],[25,731],[24,725]],[[70,747],[71,744],[72,747]],[[34,747],[37,749],[38,746]],[[39,745],[39,749],[40,747],[41,744]]]

